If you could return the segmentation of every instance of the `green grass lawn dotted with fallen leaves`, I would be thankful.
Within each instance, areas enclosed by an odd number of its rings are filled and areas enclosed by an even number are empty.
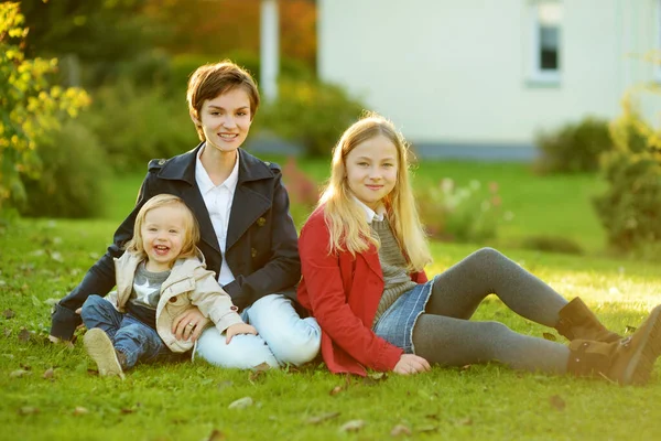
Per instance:
[[[325,176],[322,163],[303,164],[315,179]],[[46,343],[50,303],[104,252],[143,174],[113,184],[106,218],[0,225],[0,439],[381,440],[393,438],[400,424],[421,440],[632,441],[661,433],[661,363],[646,387],[518,373],[497,364],[364,380],[316,365],[253,374],[185,362],[141,365],[124,381],[98,377],[80,341],[74,347]],[[661,263],[599,256],[603,233],[586,206],[599,187],[594,176],[537,178],[520,165],[463,163],[422,164],[418,176],[498,181],[518,220],[501,232],[502,250],[565,297],[581,295],[614,331],[638,325],[661,303]],[[593,252],[575,257],[508,246],[550,230],[581,239]],[[475,248],[434,244],[427,272],[442,271]],[[474,319],[498,320],[529,335],[550,332],[494,297]],[[229,408],[243,397],[252,406]],[[362,428],[343,431],[351,420]]]

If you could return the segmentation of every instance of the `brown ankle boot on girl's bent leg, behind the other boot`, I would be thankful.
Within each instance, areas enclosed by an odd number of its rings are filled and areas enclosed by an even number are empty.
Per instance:
[[[608,331],[579,298],[575,298],[560,310],[559,316],[555,329],[570,341],[579,338],[613,343],[621,340],[620,335]]]

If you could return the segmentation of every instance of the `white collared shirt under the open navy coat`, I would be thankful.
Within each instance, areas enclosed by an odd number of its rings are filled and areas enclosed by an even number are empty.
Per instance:
[[[225,259],[225,246],[227,245],[227,228],[229,227],[231,203],[239,181],[239,155],[237,153],[237,160],[235,161],[235,166],[229,176],[227,176],[221,184],[214,185],[214,182],[199,160],[205,148],[206,147],[199,149],[199,152],[197,153],[197,159],[195,161],[195,182],[197,183],[204,204],[209,212],[209,218],[212,219],[212,225],[214,226],[214,232],[218,239],[218,246],[224,255],[220,272],[218,273],[218,283],[225,286],[235,280],[235,277],[227,265],[227,259]]]

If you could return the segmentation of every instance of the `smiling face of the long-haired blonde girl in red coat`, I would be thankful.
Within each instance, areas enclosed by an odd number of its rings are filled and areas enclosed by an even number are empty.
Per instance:
[[[382,135],[356,146],[345,158],[351,193],[376,209],[397,184],[397,147]]]

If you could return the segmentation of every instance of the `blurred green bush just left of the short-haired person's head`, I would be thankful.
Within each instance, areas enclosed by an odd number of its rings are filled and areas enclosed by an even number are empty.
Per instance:
[[[198,142],[186,101],[161,88],[139,89],[129,82],[97,90],[84,116],[117,171],[144,170],[149,160],[170,158]]]

